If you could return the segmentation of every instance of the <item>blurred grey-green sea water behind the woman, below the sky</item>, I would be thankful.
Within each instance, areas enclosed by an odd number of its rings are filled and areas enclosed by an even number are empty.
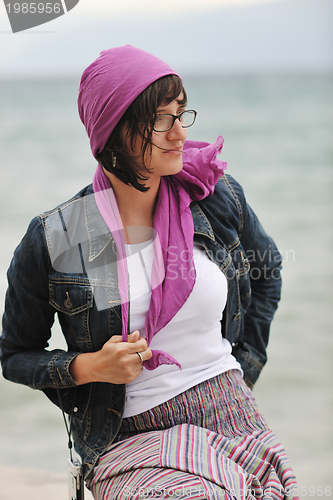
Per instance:
[[[185,78],[188,107],[198,111],[188,137],[224,137],[221,159],[284,259],[269,360],[254,394],[287,449],[302,496],[313,496],[314,487],[315,497],[317,488],[333,486],[332,82],[319,75]],[[30,219],[91,182],[96,162],[76,111],[77,88],[0,83],[1,297]],[[57,325],[55,347],[64,347]],[[3,378],[0,401],[0,463],[65,471],[58,408]]]

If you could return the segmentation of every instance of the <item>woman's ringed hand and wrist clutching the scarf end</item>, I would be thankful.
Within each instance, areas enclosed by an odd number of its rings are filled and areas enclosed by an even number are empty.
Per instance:
[[[70,364],[70,373],[77,385],[90,382],[109,382],[128,384],[135,380],[143,370],[141,359],[152,357],[147,341],[135,331],[122,342],[121,335],[114,335],[97,352],[79,354]]]

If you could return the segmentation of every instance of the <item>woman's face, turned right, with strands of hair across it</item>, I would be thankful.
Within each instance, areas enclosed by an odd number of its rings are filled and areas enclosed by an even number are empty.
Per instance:
[[[180,104],[183,99],[183,94],[181,93],[177,99],[172,101],[170,104],[161,105],[157,113],[161,114],[171,114],[178,115],[182,111],[185,111],[185,105]],[[166,132],[155,132],[152,133],[152,152],[151,156],[146,159],[146,166],[150,170],[147,173],[143,169],[143,174],[149,179],[161,177],[164,175],[173,175],[181,171],[183,168],[183,145],[187,137],[187,130],[181,126],[179,120],[175,120],[172,128]],[[129,147],[129,138],[126,138],[127,145]],[[141,162],[141,143],[142,139],[138,137],[135,141],[133,153],[134,156],[138,158],[138,167],[142,168]],[[140,158],[140,159],[139,159]],[[149,184],[149,180],[145,182],[145,185]]]

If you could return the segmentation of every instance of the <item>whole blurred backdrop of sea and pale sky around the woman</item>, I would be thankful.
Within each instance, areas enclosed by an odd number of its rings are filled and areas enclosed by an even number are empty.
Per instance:
[[[96,162],[76,109],[82,71],[124,44],[164,59],[198,111],[189,138],[224,137],[221,158],[284,258],[254,394],[304,497],[333,487],[332,26],[332,0],[80,0],[13,34],[0,5],[0,312],[30,219],[91,182]],[[55,325],[50,348],[63,345]],[[0,401],[0,464],[63,472],[60,411],[3,378]]]

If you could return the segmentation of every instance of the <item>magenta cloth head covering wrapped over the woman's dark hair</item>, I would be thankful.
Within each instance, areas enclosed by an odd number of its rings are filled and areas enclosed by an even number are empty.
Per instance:
[[[103,50],[84,70],[78,107],[95,158],[130,104],[166,75],[178,76],[161,59],[131,45]]]

